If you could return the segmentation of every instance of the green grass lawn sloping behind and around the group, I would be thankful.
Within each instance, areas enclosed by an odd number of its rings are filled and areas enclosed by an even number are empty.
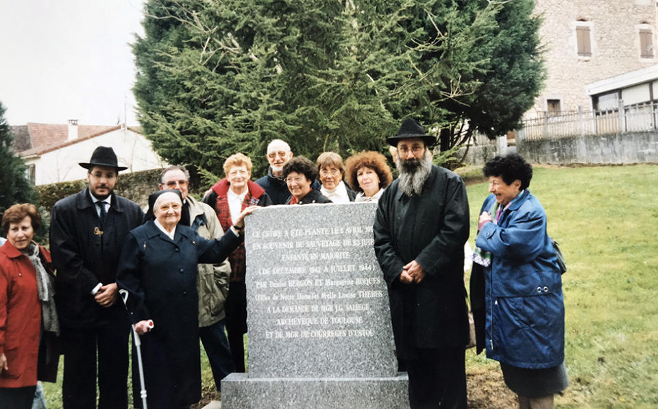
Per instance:
[[[467,188],[472,246],[487,188]],[[569,270],[563,290],[570,386],[556,406],[657,408],[658,166],[535,168],[530,190]],[[466,356],[478,407],[509,407],[509,399],[498,399],[507,393],[498,362],[474,349]],[[205,394],[213,380],[203,359]],[[49,409],[61,408],[61,382],[60,373],[58,384],[44,384]]]

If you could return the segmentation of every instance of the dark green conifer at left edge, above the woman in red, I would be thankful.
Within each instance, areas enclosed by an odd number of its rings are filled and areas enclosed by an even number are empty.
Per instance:
[[[36,199],[25,163],[12,151],[14,135],[5,111],[0,102],[0,214],[16,203],[35,203]]]

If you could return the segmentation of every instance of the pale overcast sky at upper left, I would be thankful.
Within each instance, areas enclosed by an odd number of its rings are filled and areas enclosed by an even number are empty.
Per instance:
[[[130,44],[143,0],[0,0],[0,101],[10,125],[138,125]]]

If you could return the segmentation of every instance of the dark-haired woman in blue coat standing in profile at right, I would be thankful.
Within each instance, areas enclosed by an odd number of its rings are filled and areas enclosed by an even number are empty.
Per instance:
[[[485,164],[489,192],[480,210],[474,260],[485,267],[485,347],[524,409],[552,408],[568,386],[561,271],[546,213],[528,186],[521,156]]]

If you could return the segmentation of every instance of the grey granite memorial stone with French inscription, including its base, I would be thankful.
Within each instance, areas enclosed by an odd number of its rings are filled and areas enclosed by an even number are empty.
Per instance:
[[[231,408],[404,408],[376,203],[271,206],[247,217],[248,373]]]

